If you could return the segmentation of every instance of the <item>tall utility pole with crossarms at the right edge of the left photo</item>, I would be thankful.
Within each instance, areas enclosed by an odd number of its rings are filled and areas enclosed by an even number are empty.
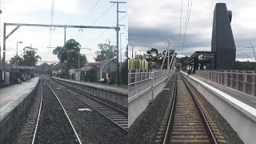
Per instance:
[[[119,30],[120,30],[119,25],[118,25],[118,21],[119,21],[118,14],[119,13],[126,13],[125,11],[119,11],[118,6],[119,6],[119,3],[126,3],[126,2],[110,2],[110,3],[116,3],[117,4],[117,29],[116,29],[117,30],[117,70],[116,70],[116,76],[115,76],[116,81],[115,82],[116,82],[116,85],[118,86],[118,82],[119,82],[118,81],[118,79],[119,79],[118,78],[118,72],[119,72],[119,70],[118,70],[119,69],[119,66],[118,66],[118,64],[119,64],[119,62],[118,62],[118,60],[119,60],[118,59],[118,56],[119,56],[119,49],[118,49],[118,47],[119,47],[119,42],[118,42],[119,38],[118,38],[118,36],[119,36]]]

